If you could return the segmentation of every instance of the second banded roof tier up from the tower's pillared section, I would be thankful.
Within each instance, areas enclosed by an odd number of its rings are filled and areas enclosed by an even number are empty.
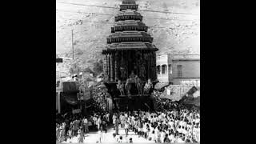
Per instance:
[[[147,32],[148,26],[146,26],[143,22],[134,21],[134,20],[126,20],[126,21],[118,21],[115,26],[111,27],[111,33],[116,31],[125,31],[125,30],[138,30]]]

